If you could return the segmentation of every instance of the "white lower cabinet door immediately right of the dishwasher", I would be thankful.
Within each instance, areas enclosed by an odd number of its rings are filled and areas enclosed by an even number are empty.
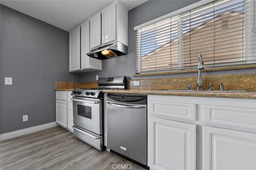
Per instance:
[[[150,169],[196,169],[196,125],[150,117],[148,133]]]

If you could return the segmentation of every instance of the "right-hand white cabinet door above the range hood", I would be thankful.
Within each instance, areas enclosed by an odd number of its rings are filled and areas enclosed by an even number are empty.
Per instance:
[[[116,40],[116,4],[102,11],[102,44]]]

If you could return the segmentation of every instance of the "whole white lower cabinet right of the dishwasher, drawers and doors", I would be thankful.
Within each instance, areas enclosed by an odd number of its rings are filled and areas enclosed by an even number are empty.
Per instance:
[[[256,170],[256,100],[148,95],[150,170]]]

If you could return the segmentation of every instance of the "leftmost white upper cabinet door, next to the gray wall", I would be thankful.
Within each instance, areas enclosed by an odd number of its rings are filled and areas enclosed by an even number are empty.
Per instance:
[[[69,71],[80,70],[80,26],[69,33]]]

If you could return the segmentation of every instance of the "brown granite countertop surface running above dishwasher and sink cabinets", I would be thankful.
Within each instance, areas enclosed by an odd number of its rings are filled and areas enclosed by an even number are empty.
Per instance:
[[[104,93],[115,94],[138,94],[138,95],[166,95],[166,96],[192,96],[192,97],[211,97],[211,98],[240,98],[256,99],[256,92],[228,92],[228,91],[172,91],[172,90],[102,90]]]

